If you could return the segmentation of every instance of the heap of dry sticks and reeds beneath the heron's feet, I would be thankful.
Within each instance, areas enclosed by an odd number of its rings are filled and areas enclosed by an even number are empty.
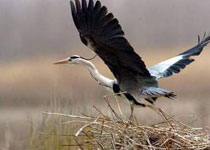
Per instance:
[[[50,148],[56,150],[210,149],[210,132],[207,129],[193,128],[174,117],[159,124],[144,126],[135,119],[128,121],[120,117],[109,104],[108,106],[113,117],[108,117],[96,107],[98,116],[44,113],[48,117],[63,119],[60,125],[57,124],[60,126],[59,129],[50,128],[40,133],[39,139],[42,139],[40,143],[48,146],[52,143],[57,144],[57,148],[53,146]],[[63,130],[64,126],[65,130]],[[48,142],[43,139],[47,139]],[[38,147],[35,149],[39,150]],[[42,149],[48,148],[46,146]]]

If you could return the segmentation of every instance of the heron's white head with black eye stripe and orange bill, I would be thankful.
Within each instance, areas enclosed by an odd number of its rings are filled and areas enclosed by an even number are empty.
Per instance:
[[[71,57],[59,60],[55,62],[55,65],[59,64],[80,64],[83,60],[85,60],[83,57],[79,55],[72,55]]]

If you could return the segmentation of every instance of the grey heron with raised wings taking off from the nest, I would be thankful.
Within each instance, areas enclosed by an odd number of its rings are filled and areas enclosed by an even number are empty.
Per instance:
[[[73,21],[83,44],[96,53],[108,66],[115,79],[101,75],[87,59],[74,55],[55,64],[80,64],[88,67],[92,77],[114,93],[123,93],[131,102],[131,116],[134,106],[156,108],[154,103],[160,97],[173,99],[175,93],[160,88],[161,78],[179,73],[194,61],[210,42],[210,34],[198,36],[198,44],[175,57],[147,68],[128,40],[117,18],[108,12],[100,1],[70,1]]]

